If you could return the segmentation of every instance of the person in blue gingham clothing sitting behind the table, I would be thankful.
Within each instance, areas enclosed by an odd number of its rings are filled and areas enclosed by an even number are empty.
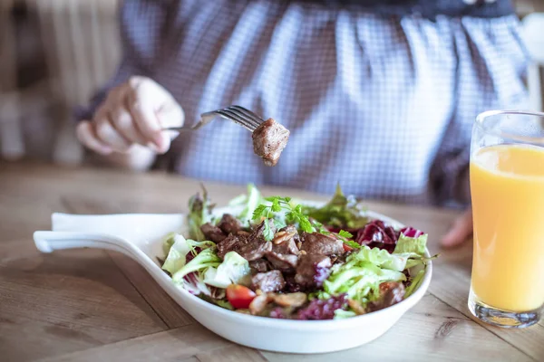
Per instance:
[[[508,0],[140,0],[121,34],[78,138],[114,165],[202,180],[468,207],[473,119],[527,96]],[[290,129],[276,167],[226,120],[161,131],[231,104]],[[442,244],[471,228],[469,207]]]

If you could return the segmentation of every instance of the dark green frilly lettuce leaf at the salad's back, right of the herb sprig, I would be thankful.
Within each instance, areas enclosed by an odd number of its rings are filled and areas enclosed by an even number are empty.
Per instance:
[[[340,186],[336,186],[335,195],[323,207],[305,206],[303,213],[319,223],[330,226],[357,229],[368,223],[364,209],[355,197],[346,197]]]

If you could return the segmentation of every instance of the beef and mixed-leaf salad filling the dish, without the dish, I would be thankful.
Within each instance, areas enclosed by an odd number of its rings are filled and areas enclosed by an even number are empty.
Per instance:
[[[337,187],[325,205],[263,198],[255,186],[217,213],[189,200],[189,233],[160,261],[173,283],[227,310],[272,319],[349,319],[409,298],[430,258],[427,234],[370,217]],[[237,210],[234,212],[234,210]]]

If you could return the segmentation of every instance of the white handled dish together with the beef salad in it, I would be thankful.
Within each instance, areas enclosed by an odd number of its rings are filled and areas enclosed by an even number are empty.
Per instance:
[[[214,207],[204,192],[189,208],[55,213],[52,230],[35,232],[34,241],[42,252],[122,252],[207,329],[276,352],[364,345],[391,329],[431,282],[426,233],[363,210],[340,189],[323,205],[263,198],[249,186],[227,207]]]

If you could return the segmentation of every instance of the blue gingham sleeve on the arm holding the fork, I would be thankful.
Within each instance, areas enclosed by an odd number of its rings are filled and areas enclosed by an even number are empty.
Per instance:
[[[128,81],[133,75],[152,78],[154,62],[160,52],[157,39],[165,32],[168,19],[166,1],[125,1],[119,10],[121,31],[121,63],[112,79],[98,90],[89,105],[75,111],[77,120],[92,119],[112,88]]]

